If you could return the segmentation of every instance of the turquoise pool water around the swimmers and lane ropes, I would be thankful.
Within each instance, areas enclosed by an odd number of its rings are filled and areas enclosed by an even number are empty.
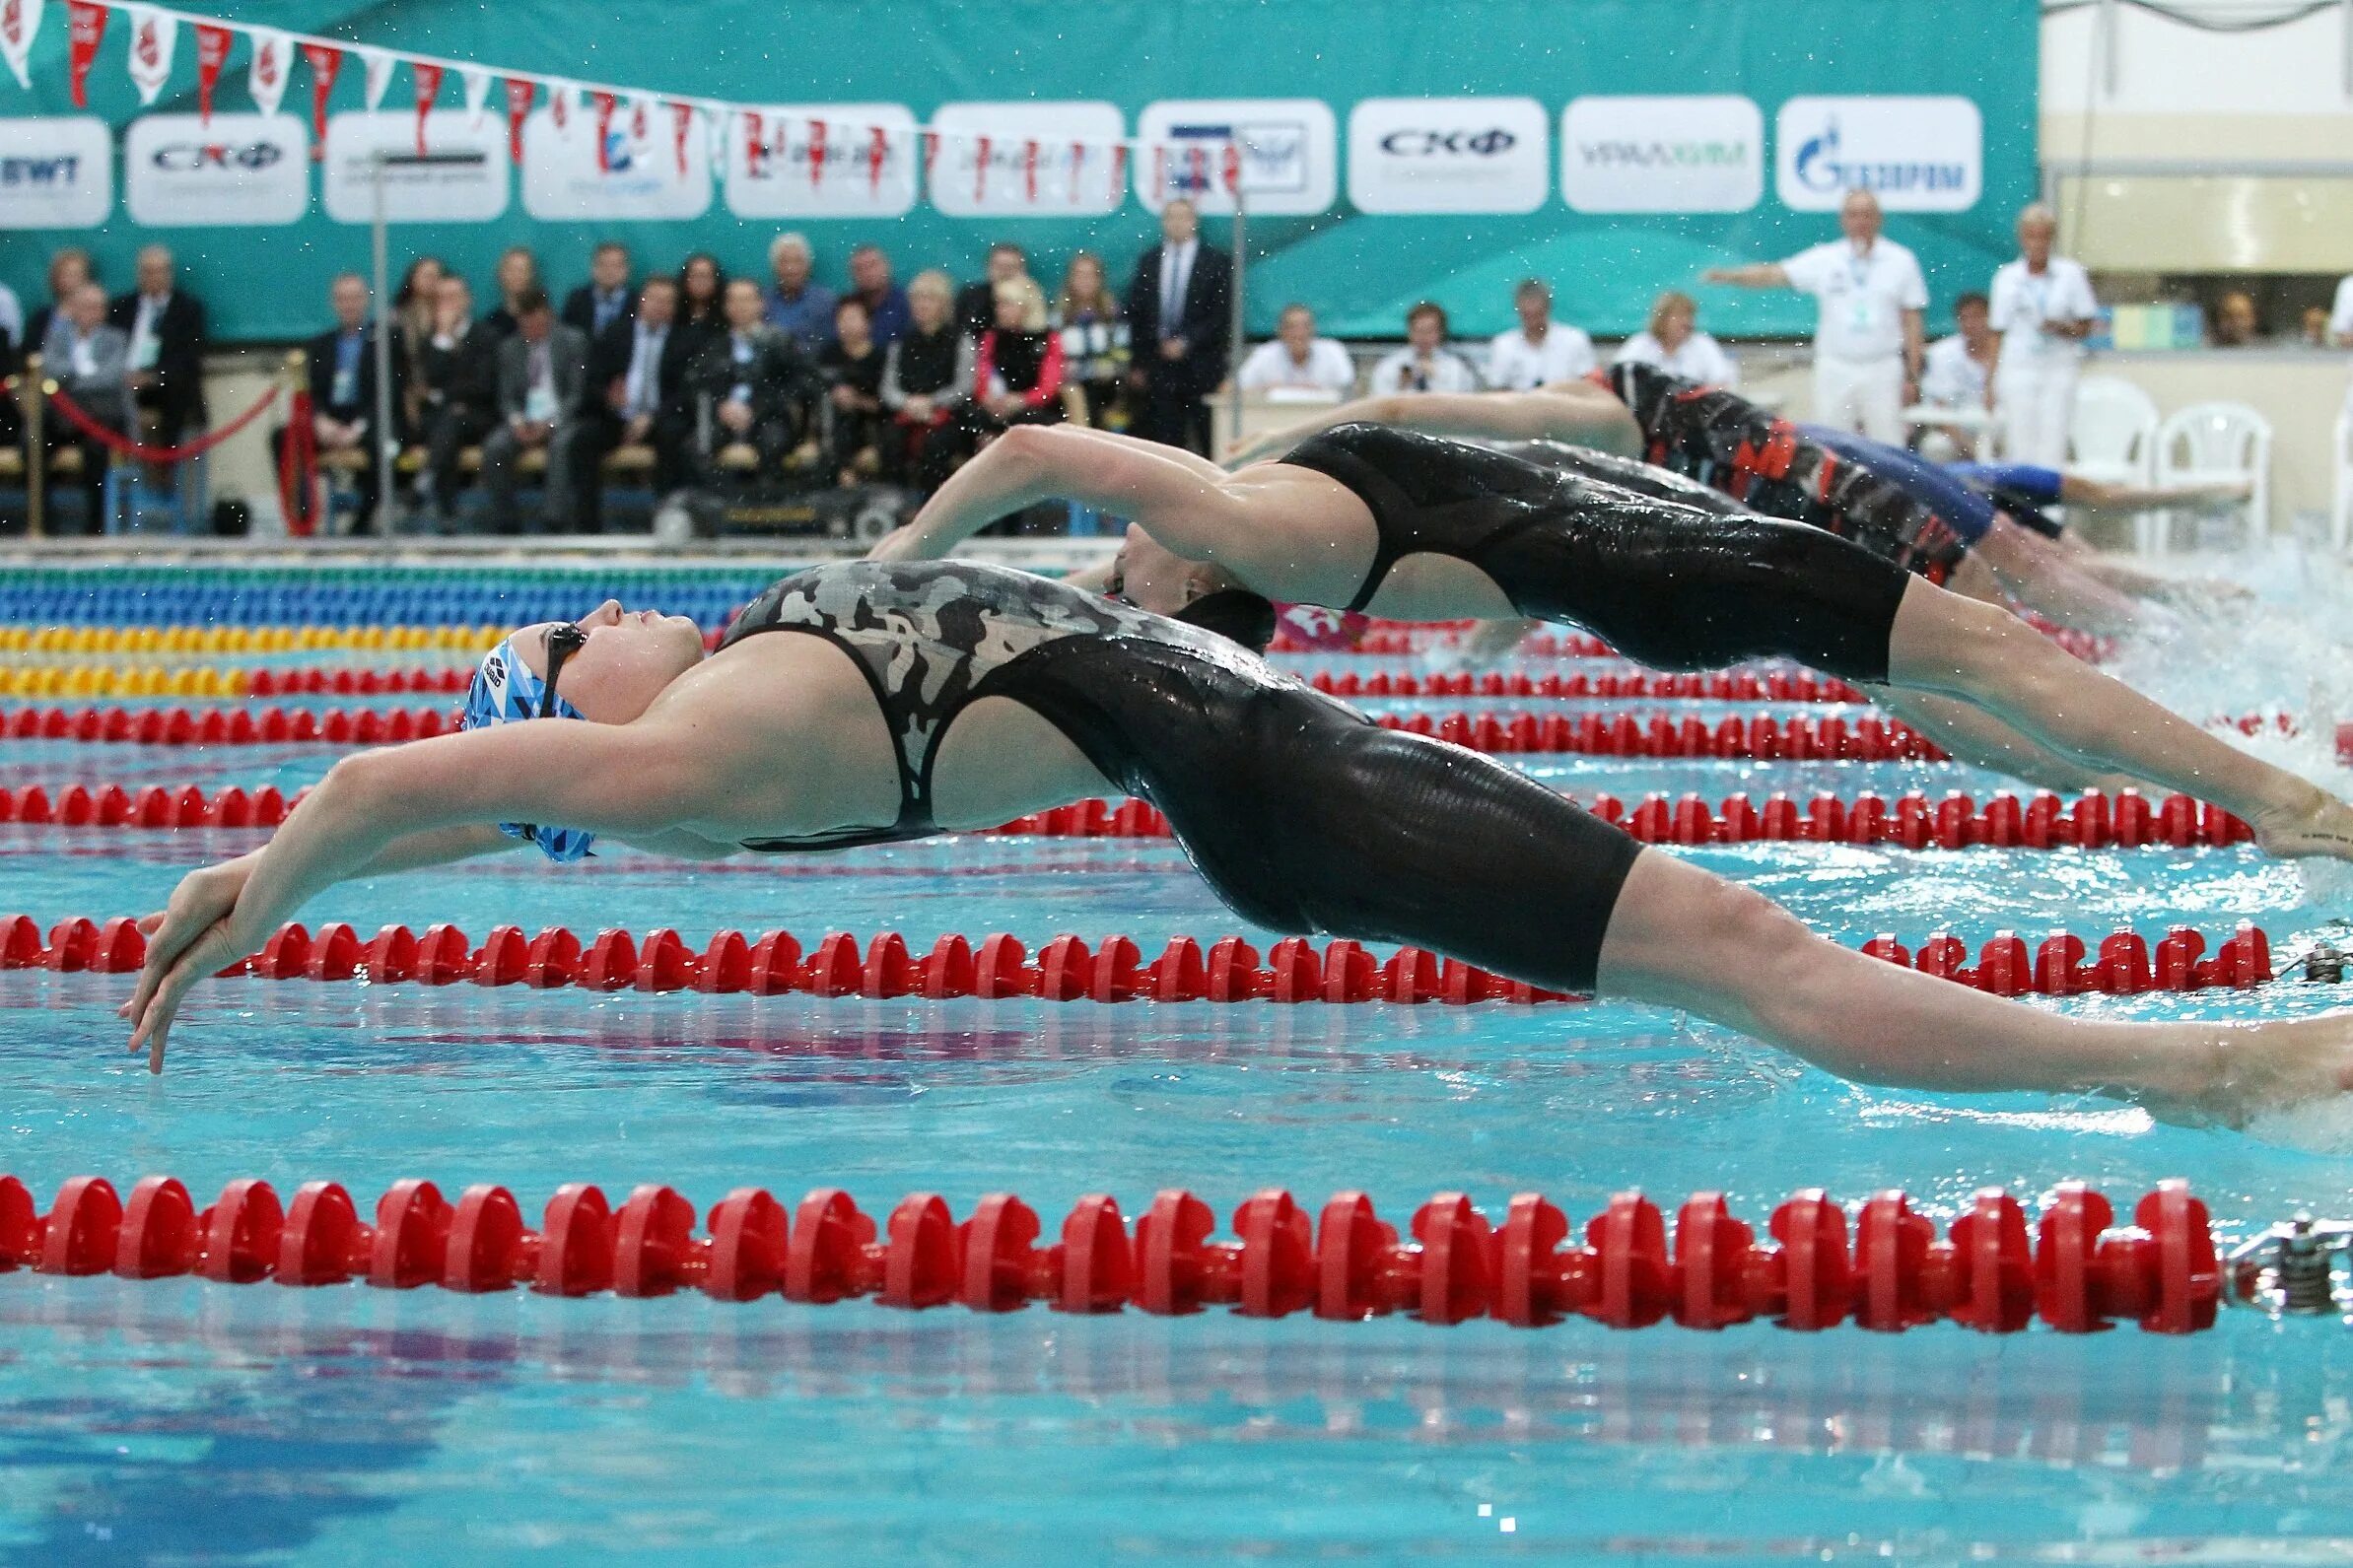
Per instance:
[[[2325,696],[2280,689],[2292,668],[2280,639],[2325,675],[2308,628],[2325,623],[2327,585],[2287,567],[2249,576],[2268,595],[2261,630],[2238,642],[2249,656],[2139,670],[2191,712],[2313,710]],[[499,588],[496,569],[449,574],[445,602]],[[296,585],[278,590],[299,609]],[[2311,743],[2271,745],[2325,771]],[[0,783],[289,788],[329,759],[9,741]],[[1925,764],[1522,762],[1621,797],[2000,788]],[[141,912],[191,865],[254,842],[0,825],[0,912],[42,924]],[[2052,924],[2212,933],[2252,917],[2292,950],[2353,912],[2249,849],[1678,853],[1847,943],[1894,931],[1915,945],[1939,926],[1972,945]],[[718,867],[621,851],[593,875],[511,858],[355,882],[304,919],[362,933],[449,919],[473,936],[666,924],[689,945],[715,929],[781,926],[805,943],[894,929],[918,950],[951,931],[1012,931],[1033,947],[1061,931],[1127,933],[1146,952],[1179,933],[1249,933],[1165,844],[1005,837]],[[2245,1232],[2299,1206],[2346,1213],[2353,1171],[2099,1100],[1861,1088],[1631,1006],[228,980],[198,992],[169,1072],[151,1079],[111,1011],[127,985],[0,973],[0,1168],[42,1201],[85,1171],[125,1187],[169,1171],[198,1201],[233,1175],[280,1192],[325,1175],[362,1201],[402,1175],[506,1182],[527,1213],[565,1180],[671,1182],[699,1208],[739,1185],[786,1201],[840,1185],[868,1213],[915,1190],[967,1213],[1012,1190],[1047,1215],[1082,1192],[1136,1213],[1181,1185],[1224,1218],[1278,1185],[1311,1206],[1362,1187],[1393,1220],[1440,1190],[1489,1213],[1541,1190],[1581,1222],[1624,1187],[1668,1206],[1720,1187],[1762,1220],[1821,1185],[1849,1201],[1904,1187],[1948,1220],[1981,1185],[2033,1206],[2082,1178],[2122,1208],[2188,1175],[2217,1225]],[[2254,1018],[2337,994],[2280,983],[2045,1006]],[[0,1556],[28,1563],[2353,1554],[2353,1479],[2339,1465],[2353,1345],[2334,1324],[2245,1314],[2188,1340],[1951,1326],[1525,1333],[19,1272],[0,1276]]]

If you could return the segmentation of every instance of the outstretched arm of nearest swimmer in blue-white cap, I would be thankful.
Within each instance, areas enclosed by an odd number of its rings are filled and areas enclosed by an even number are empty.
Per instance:
[[[496,823],[565,823],[645,842],[696,820],[734,780],[666,724],[529,722],[336,762],[252,856],[191,872],[153,924],[122,1009],[132,1051],[162,1072],[181,999],[254,952],[320,891],[367,872],[489,849]]]

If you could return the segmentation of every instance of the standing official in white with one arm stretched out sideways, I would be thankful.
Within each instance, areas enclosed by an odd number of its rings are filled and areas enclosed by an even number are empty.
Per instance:
[[[1880,197],[1849,190],[1838,207],[1845,240],[1788,261],[1708,268],[1708,282],[1798,289],[1821,301],[1814,324],[1814,421],[1875,442],[1904,440],[1904,404],[1920,386],[1920,259],[1880,237]]]

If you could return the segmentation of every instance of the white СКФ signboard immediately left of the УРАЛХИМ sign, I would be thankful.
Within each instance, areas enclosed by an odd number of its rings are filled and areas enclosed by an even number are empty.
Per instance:
[[[1348,110],[1358,212],[1534,212],[1553,183],[1534,99],[1365,99]]]

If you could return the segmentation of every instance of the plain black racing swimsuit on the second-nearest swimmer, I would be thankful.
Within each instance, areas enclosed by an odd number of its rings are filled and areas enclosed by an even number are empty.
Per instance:
[[[1567,621],[1659,670],[1779,656],[1845,679],[1887,679],[1906,578],[1821,529],[1697,505],[1673,475],[1609,480],[1391,430],[1339,425],[1285,463],[1346,484],[1379,545],[1348,609],[1407,555],[1471,562],[1522,616]]]

